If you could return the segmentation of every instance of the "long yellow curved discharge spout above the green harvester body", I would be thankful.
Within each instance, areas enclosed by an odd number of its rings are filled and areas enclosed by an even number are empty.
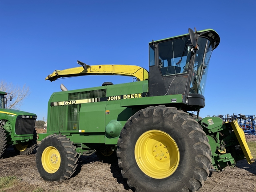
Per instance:
[[[60,77],[74,77],[85,75],[121,75],[136,77],[138,81],[148,79],[148,71],[136,65],[87,65],[77,61],[82,67],[55,70],[45,80],[55,81]]]

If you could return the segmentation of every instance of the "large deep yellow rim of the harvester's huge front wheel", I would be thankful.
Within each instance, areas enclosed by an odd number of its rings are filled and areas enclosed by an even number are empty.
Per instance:
[[[135,160],[142,172],[155,179],[164,179],[176,171],[180,152],[175,140],[166,132],[144,132],[135,144]]]

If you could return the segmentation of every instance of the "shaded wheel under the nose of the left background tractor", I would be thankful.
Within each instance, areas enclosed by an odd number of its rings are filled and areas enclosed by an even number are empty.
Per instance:
[[[37,140],[37,134],[36,134],[36,130],[34,130],[33,139],[26,143],[19,143],[14,145],[14,150],[18,155],[28,155],[35,150],[36,144],[37,144],[36,140]]]

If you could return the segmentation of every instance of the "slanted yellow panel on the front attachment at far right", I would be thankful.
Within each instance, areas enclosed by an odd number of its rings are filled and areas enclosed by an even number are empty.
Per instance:
[[[239,127],[237,120],[231,121],[230,124],[236,134],[236,138],[239,141],[239,144],[244,152],[244,156],[246,157],[248,164],[252,164],[254,162],[254,159],[252,157],[252,153],[248,147],[248,144],[246,143],[243,129]]]

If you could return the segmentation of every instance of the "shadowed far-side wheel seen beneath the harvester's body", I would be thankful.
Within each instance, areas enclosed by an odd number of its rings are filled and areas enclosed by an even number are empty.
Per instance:
[[[102,145],[96,149],[97,157],[106,163],[112,163],[117,160],[115,145]]]

